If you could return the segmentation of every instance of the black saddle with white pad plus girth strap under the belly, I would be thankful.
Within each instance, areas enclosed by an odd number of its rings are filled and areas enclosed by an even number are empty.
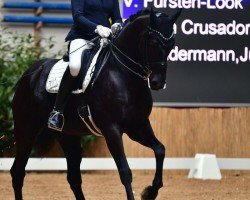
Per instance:
[[[81,56],[81,69],[77,77],[77,84],[73,90],[73,94],[84,93],[89,86],[90,89],[97,80],[99,74],[104,68],[110,51],[109,48],[104,48],[104,42],[95,45],[92,49],[86,49]],[[46,82],[46,90],[49,93],[57,93],[59,86],[69,65],[69,55],[66,53],[61,60],[54,64]],[[88,105],[81,105],[77,109],[78,115],[87,128],[96,136],[102,136],[100,129],[96,126]]]

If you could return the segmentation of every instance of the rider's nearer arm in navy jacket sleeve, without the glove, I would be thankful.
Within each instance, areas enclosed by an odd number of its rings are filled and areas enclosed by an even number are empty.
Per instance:
[[[83,0],[71,0],[73,20],[84,31],[88,30],[93,33],[97,24],[84,17],[84,2]]]

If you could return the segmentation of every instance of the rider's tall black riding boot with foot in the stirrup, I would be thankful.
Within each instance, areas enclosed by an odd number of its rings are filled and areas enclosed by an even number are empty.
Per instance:
[[[62,131],[64,125],[63,111],[73,90],[76,77],[70,74],[69,67],[67,67],[56,96],[56,102],[53,111],[50,113],[48,120],[48,127],[57,131]]]

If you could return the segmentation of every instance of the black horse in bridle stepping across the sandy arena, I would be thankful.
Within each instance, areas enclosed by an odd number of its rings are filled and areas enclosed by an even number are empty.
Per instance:
[[[163,186],[165,148],[155,137],[148,119],[152,109],[149,86],[159,90],[166,84],[167,56],[175,43],[173,24],[180,13],[178,10],[168,16],[143,10],[131,16],[118,37],[107,47],[111,54],[93,88],[84,94],[115,160],[129,200],[134,199],[134,195],[132,174],[123,149],[123,133],[155,153],[155,177],[152,185],[142,192],[142,199],[155,199]],[[25,166],[34,141],[39,134],[55,133],[47,128],[55,94],[45,90],[45,83],[56,62],[56,59],[37,61],[16,86],[12,104],[16,156],[11,168],[16,199],[22,199]],[[63,133],[59,137],[67,159],[67,180],[79,200],[85,199],[81,188],[80,138],[88,130],[78,117],[77,108],[82,104],[84,95],[71,95],[65,110]]]

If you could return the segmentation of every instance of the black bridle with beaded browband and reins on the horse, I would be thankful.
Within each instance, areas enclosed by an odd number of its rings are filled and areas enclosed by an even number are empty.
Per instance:
[[[133,60],[131,57],[129,57],[126,53],[124,53],[121,49],[119,49],[114,40],[110,41],[110,49],[113,57],[122,65],[124,66],[127,70],[135,74],[136,76],[139,76],[143,80],[148,80],[150,75],[152,74],[152,70],[150,69],[150,66],[158,66],[159,68],[165,67],[167,65],[167,61],[158,61],[158,62],[150,62],[148,61],[148,43],[149,43],[149,38],[150,37],[155,37],[157,41],[161,44],[161,46],[165,46],[166,43],[174,38],[174,31],[172,34],[167,38],[165,37],[162,33],[159,31],[151,28],[150,26],[147,27],[147,31],[144,34],[145,36],[143,37],[145,44],[144,44],[144,53],[143,53],[143,61],[142,64],[139,62],[136,62]],[[122,55],[124,58],[126,58],[129,62],[133,63],[134,65],[138,66],[141,69],[141,72],[137,72],[134,69],[131,69],[128,65],[126,65],[123,61],[119,59],[119,55],[117,52]]]

